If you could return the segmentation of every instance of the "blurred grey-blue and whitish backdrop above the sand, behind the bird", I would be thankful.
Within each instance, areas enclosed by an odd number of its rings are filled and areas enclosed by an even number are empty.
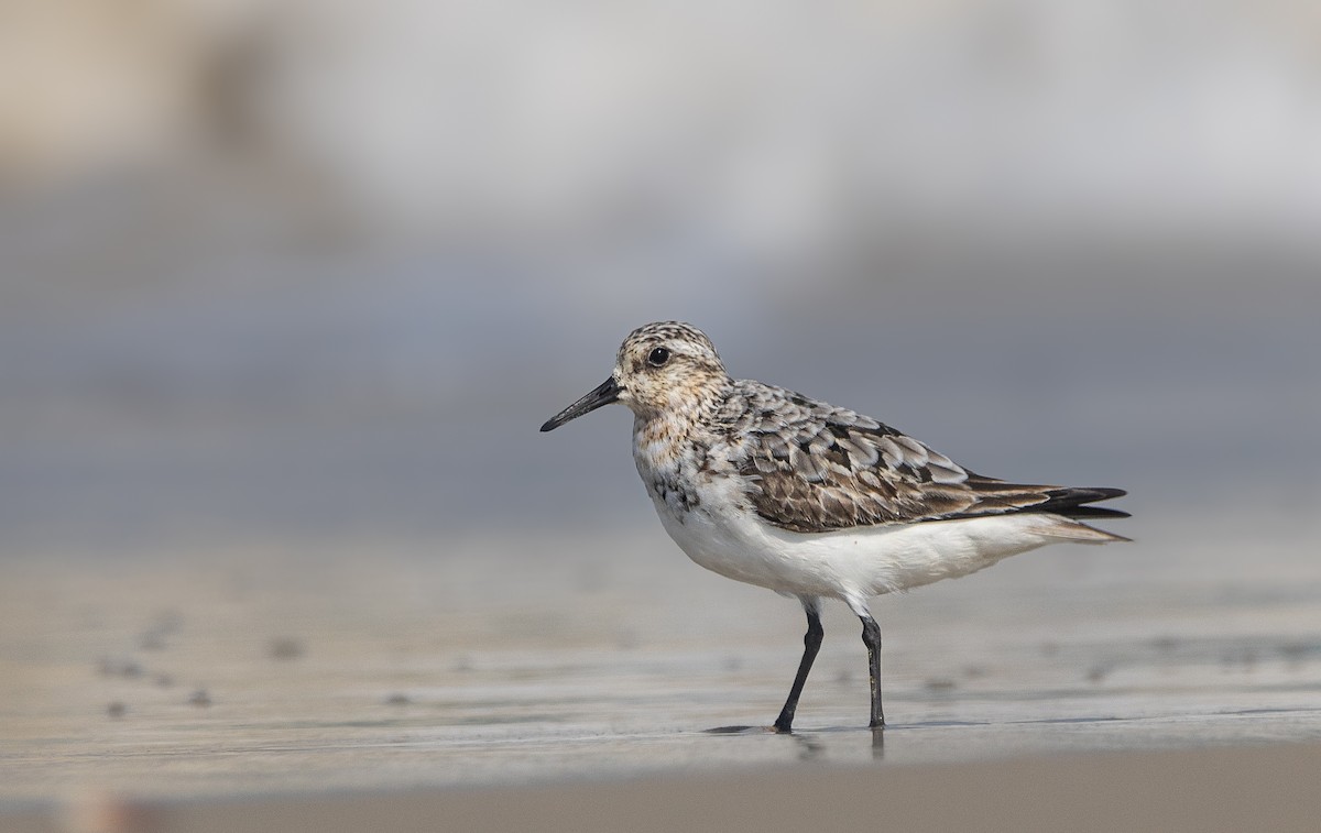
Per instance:
[[[1318,148],[1305,0],[8,0],[0,569],[659,537],[624,409],[536,428],[663,318],[1316,543]]]

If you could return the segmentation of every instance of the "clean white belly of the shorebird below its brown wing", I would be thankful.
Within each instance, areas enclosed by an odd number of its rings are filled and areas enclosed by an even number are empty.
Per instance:
[[[750,512],[695,511],[682,520],[662,504],[660,523],[699,565],[794,595],[861,601],[958,578],[1045,544],[1066,519],[1045,514],[860,527],[807,535]]]

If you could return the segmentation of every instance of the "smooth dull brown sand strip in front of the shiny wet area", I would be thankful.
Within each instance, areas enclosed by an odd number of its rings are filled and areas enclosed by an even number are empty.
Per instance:
[[[5,829],[1304,833],[1321,817],[1318,766],[1321,745],[1309,745],[248,801],[133,804],[90,796],[55,813],[11,816]]]

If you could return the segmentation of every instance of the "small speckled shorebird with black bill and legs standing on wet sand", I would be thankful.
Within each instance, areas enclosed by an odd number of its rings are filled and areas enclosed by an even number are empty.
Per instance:
[[[881,628],[868,599],[958,578],[1037,547],[1128,539],[1082,519],[1119,488],[1025,486],[974,474],[871,417],[731,379],[707,335],[666,321],[624,339],[610,378],[551,417],[552,430],[601,405],[633,411],[633,458],[666,532],[708,570],[794,595],[807,635],[787,733],[822,644],[820,601],[863,620],[871,726],[881,727]]]

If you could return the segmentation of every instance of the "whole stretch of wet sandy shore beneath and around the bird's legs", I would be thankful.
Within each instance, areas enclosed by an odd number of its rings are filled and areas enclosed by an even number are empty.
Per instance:
[[[1244,829],[1247,801],[1304,829],[1321,580],[1310,531],[1262,528],[1215,549],[1148,528],[878,599],[882,743],[841,606],[793,737],[703,731],[774,717],[801,611],[657,531],[13,561],[0,828],[112,795],[161,830]]]

